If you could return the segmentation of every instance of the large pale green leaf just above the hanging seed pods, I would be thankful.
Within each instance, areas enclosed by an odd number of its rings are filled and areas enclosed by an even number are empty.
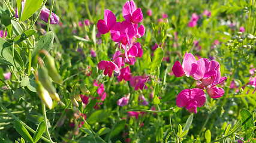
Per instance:
[[[54,39],[53,32],[47,32],[43,37],[41,37],[41,39],[37,42],[37,44],[35,44],[35,48],[32,51],[32,54],[31,54],[32,61],[34,61],[33,58],[35,57],[35,55],[38,54],[40,49],[45,49],[47,52],[50,51],[50,48],[52,48],[53,39]],[[28,62],[29,62],[29,58],[28,60],[26,60],[26,64],[28,64]]]

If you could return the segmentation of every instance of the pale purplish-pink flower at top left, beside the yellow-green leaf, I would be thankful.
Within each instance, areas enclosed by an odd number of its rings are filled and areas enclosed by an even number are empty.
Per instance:
[[[50,10],[46,7],[43,7],[40,13],[40,19],[48,23],[49,15],[50,15]],[[58,24],[58,23],[59,23],[58,15],[56,15],[55,13],[52,13],[50,17],[50,24]]]

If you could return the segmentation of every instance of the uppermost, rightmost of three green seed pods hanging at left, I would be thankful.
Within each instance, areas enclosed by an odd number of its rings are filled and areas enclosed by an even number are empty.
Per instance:
[[[61,84],[62,83],[61,75],[59,75],[55,67],[54,58],[50,54],[46,55],[45,64],[46,64],[46,68],[50,71],[49,76],[52,77],[52,80],[56,83]]]

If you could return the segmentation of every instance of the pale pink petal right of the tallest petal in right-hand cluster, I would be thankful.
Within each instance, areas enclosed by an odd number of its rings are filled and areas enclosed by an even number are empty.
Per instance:
[[[197,60],[197,71],[192,75],[195,80],[200,80],[204,77],[204,73],[206,73],[209,69],[210,61],[207,58],[200,58]]]

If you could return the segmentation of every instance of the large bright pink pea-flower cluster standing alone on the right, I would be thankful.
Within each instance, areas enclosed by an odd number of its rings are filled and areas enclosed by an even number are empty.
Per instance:
[[[176,104],[178,107],[186,106],[189,112],[197,113],[196,107],[202,107],[205,102],[206,89],[211,98],[220,98],[224,95],[224,89],[217,87],[224,82],[227,77],[221,77],[218,61],[210,61],[207,58],[195,60],[194,55],[186,52],[182,64],[176,61],[172,67],[174,76],[192,76],[199,84],[194,89],[185,89],[177,96]]]

